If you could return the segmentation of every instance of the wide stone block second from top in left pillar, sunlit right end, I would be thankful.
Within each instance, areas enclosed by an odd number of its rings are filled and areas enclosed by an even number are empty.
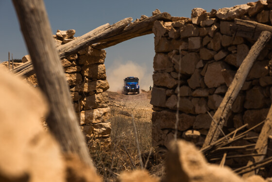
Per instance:
[[[82,67],[82,74],[87,78],[106,79],[106,68],[104,64],[93,64],[91,67]]]

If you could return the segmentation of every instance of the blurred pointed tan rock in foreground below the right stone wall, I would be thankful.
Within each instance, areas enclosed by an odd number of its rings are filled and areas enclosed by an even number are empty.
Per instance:
[[[228,167],[208,164],[196,147],[183,140],[170,143],[167,182],[244,182]]]

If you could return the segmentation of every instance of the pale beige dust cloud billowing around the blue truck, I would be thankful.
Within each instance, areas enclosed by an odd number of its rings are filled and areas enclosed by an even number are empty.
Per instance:
[[[115,61],[109,68],[106,68],[109,91],[121,92],[124,78],[135,76],[139,78],[140,90],[148,91],[153,86],[153,68],[147,69],[145,65],[139,65],[129,60],[126,63]]]

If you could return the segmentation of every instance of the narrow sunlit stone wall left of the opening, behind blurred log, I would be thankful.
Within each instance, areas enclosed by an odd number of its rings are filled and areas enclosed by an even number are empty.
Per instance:
[[[54,35],[55,44],[61,44],[77,38],[73,37],[75,30],[60,31]],[[104,59],[105,50],[87,47],[76,54],[62,59],[62,66],[71,91],[71,99],[79,122],[86,137],[91,141],[110,142],[111,125],[110,108],[108,107],[109,89],[106,80]],[[22,62],[31,61],[29,55],[22,58]],[[32,84],[37,84],[33,76],[27,78]]]

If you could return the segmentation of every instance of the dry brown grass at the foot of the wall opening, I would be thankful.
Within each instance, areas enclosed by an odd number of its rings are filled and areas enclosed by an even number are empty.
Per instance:
[[[105,182],[116,181],[121,171],[140,168],[132,117],[126,115],[127,113],[115,115],[110,119],[112,125],[111,146],[107,148],[97,146],[95,150],[91,151],[97,170]],[[144,166],[152,174],[163,176],[164,163],[158,160],[152,148],[152,123],[136,119],[135,124]]]

